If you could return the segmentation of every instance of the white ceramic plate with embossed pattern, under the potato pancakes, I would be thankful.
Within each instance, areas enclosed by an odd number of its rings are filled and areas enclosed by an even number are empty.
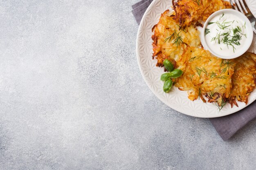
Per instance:
[[[256,0],[247,0],[252,13],[256,16]],[[235,113],[246,107],[245,103],[238,102],[238,106],[231,108],[230,104],[226,104],[222,110],[212,103],[203,103],[198,99],[191,101],[187,97],[186,91],[180,91],[177,87],[173,87],[169,93],[164,93],[163,84],[160,76],[164,73],[164,68],[156,67],[157,60],[152,60],[152,40],[151,28],[159,21],[161,13],[166,9],[170,9],[171,0],[154,0],[146,10],[137,34],[137,60],[141,74],[150,88],[150,90],[166,105],[177,110],[178,112],[194,117],[221,117]],[[256,36],[249,51],[256,53]],[[248,104],[251,104],[256,99],[256,90],[254,90],[248,99]]]

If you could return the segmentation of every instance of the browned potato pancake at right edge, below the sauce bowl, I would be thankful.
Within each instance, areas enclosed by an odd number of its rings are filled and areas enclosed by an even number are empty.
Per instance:
[[[232,76],[233,88],[231,90],[229,103],[231,106],[236,100],[248,102],[250,92],[254,90],[256,84],[256,54],[246,52],[240,57],[235,58],[235,73]]]

